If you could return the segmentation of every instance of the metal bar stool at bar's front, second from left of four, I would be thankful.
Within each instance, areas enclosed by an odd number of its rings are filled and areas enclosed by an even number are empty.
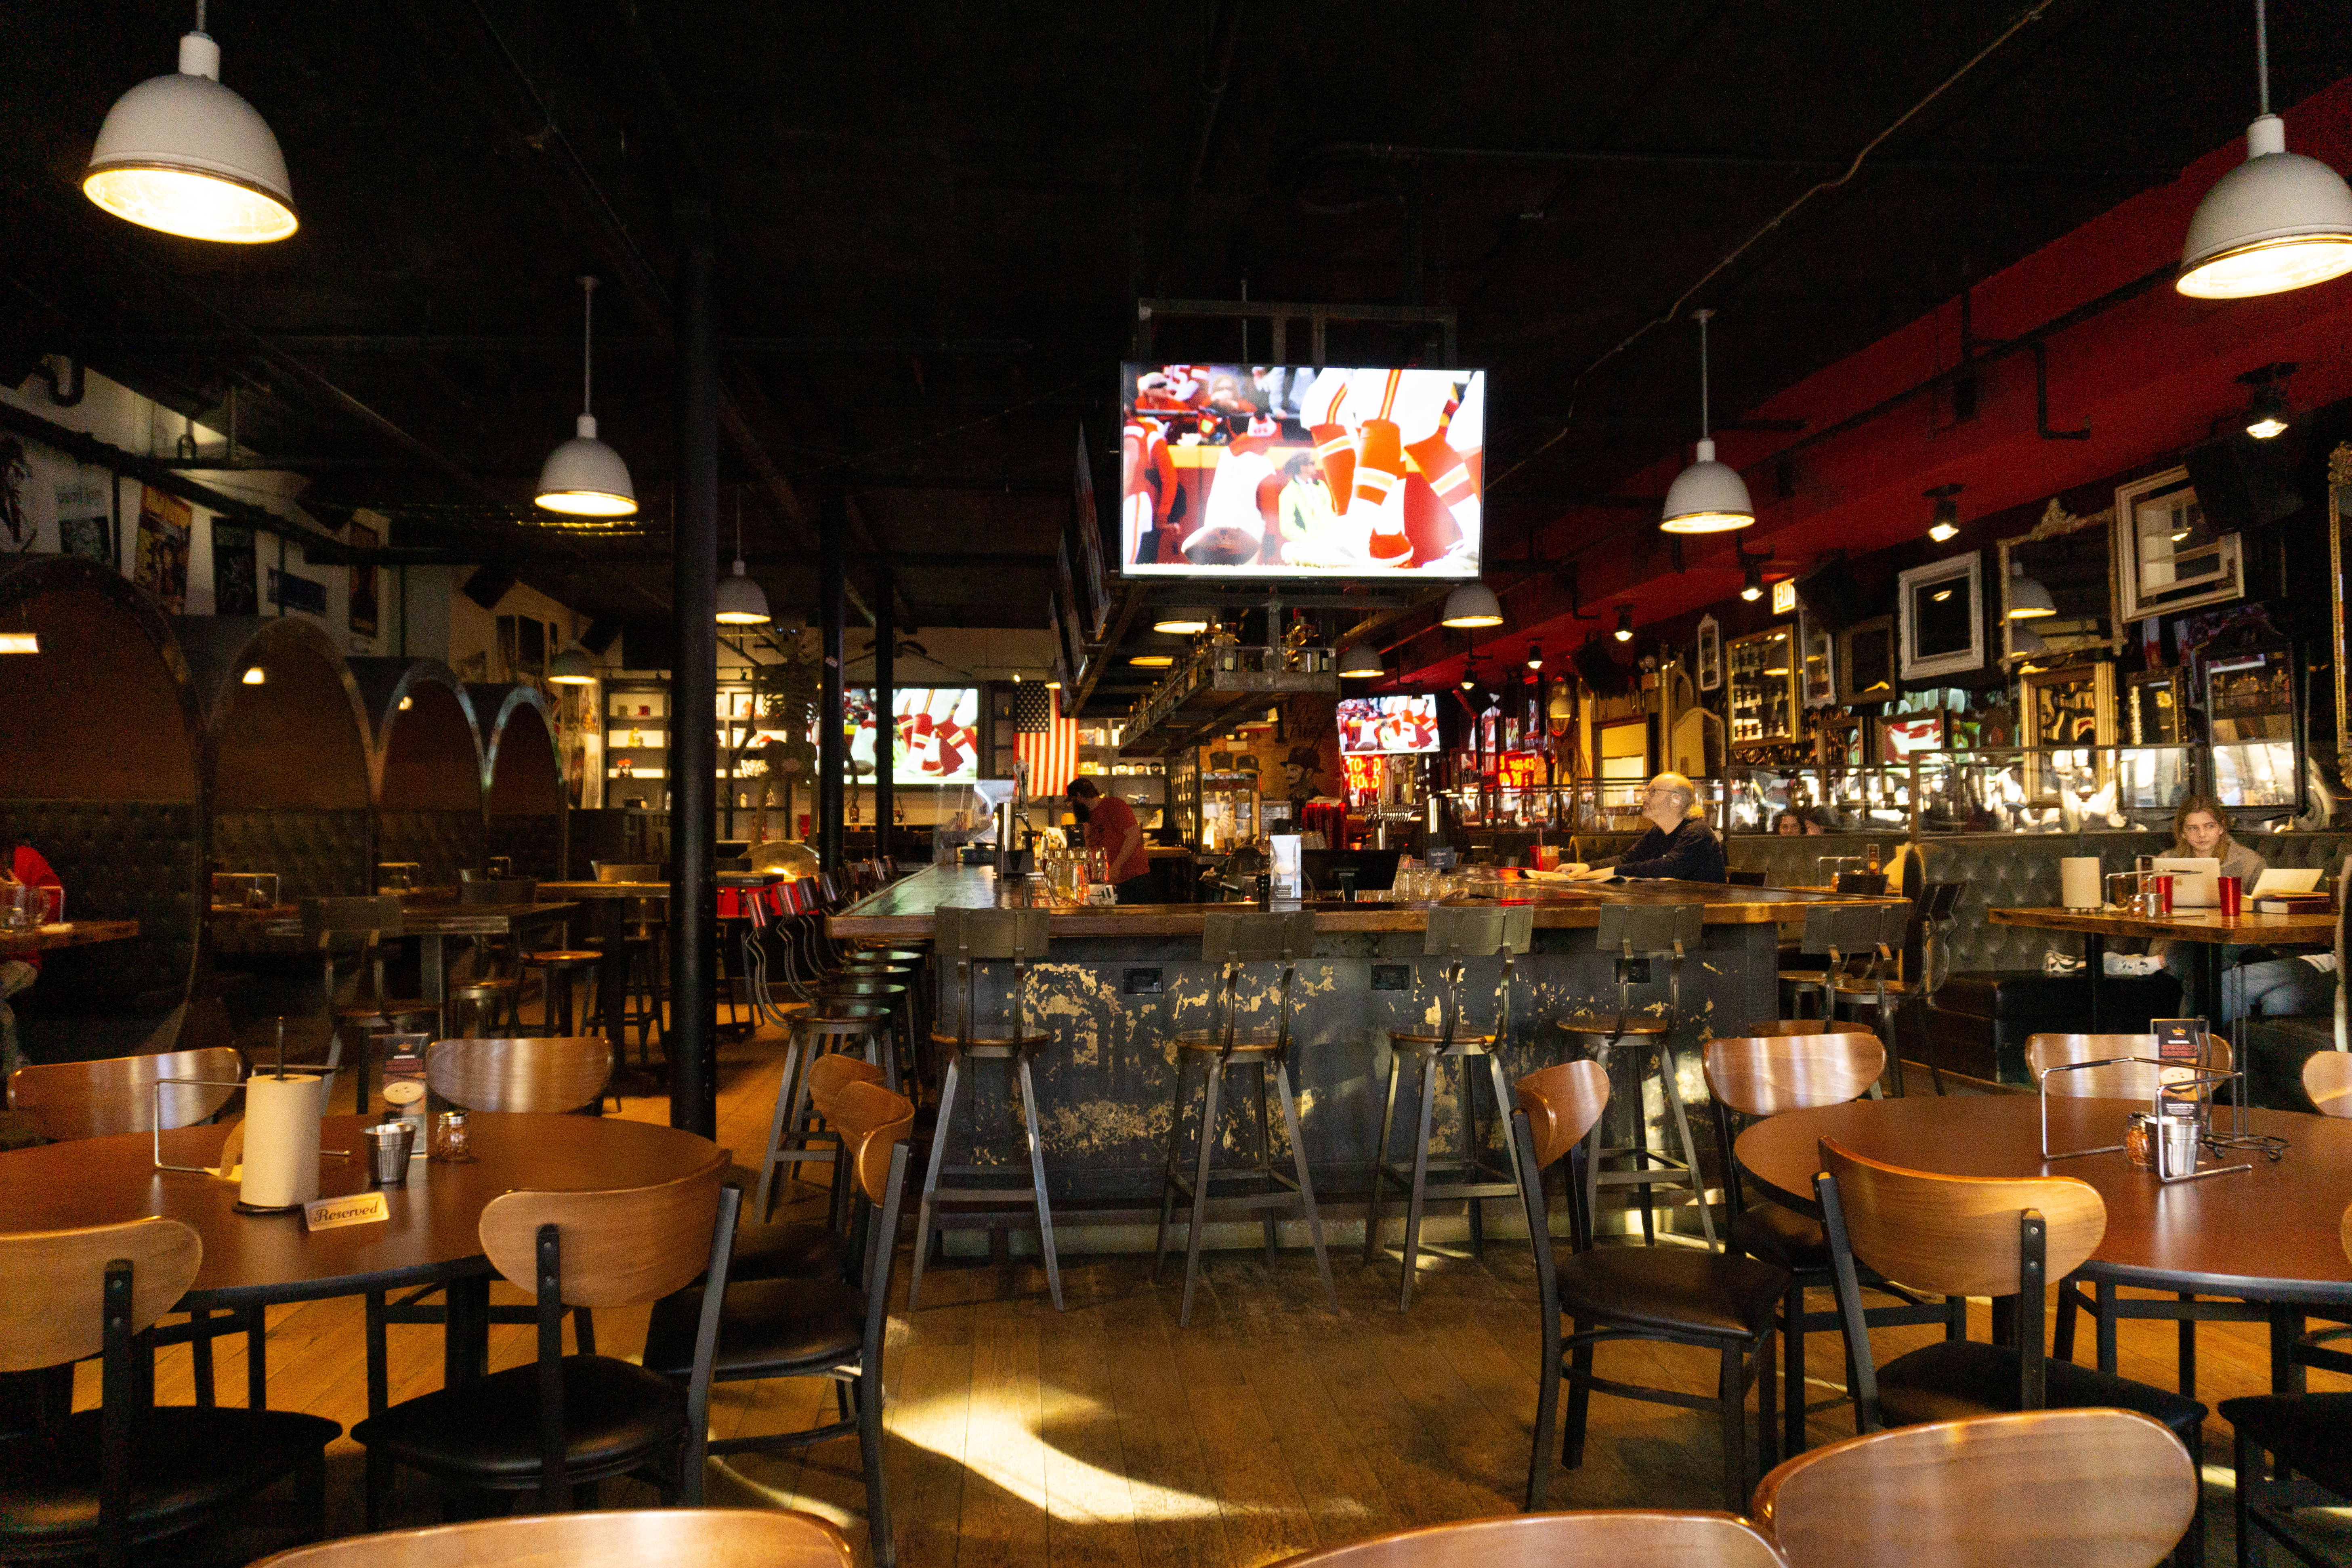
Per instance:
[[[1298,1135],[1298,1105],[1291,1100],[1291,980],[1298,973],[1301,954],[1312,952],[1312,914],[1228,914],[1221,910],[1202,914],[1200,957],[1204,964],[1223,964],[1225,976],[1218,985],[1216,1027],[1176,1034],[1176,1098],[1169,1107],[1169,1159],[1167,1168],[1160,1173],[1160,1241],[1152,1248],[1152,1281],[1157,1281],[1160,1265],[1167,1260],[1169,1251],[1169,1220],[1176,1215],[1176,1197],[1183,1194],[1190,1201],[1192,1213],[1185,1225],[1183,1305],[1176,1312],[1178,1328],[1192,1324],[1192,1286],[1200,1281],[1200,1239],[1209,1222],[1209,1190],[1214,1182],[1230,1178],[1265,1182],[1261,1192],[1223,1197],[1218,1201],[1228,1208],[1242,1208],[1244,1213],[1256,1211],[1263,1218],[1268,1267],[1275,1262],[1275,1211],[1296,1206],[1308,1222],[1308,1237],[1315,1241],[1315,1267],[1322,1272],[1324,1295],[1331,1302],[1331,1312],[1338,1312],[1338,1288],[1331,1284],[1331,1258],[1324,1253],[1322,1244],[1322,1215],[1315,1211],[1315,1180],[1308,1175],[1308,1147]],[[1249,1034],[1244,1039],[1240,1006],[1242,969],[1251,961],[1265,959],[1282,961],[1275,1032]],[[1195,1157],[1192,1175],[1188,1178],[1178,1154],[1183,1150],[1183,1079],[1185,1065],[1192,1060],[1200,1060],[1202,1065],[1202,1110],[1200,1133],[1195,1138],[1200,1152]],[[1258,1159],[1256,1164],[1228,1166],[1218,1171],[1214,1168],[1216,1112],[1228,1067],[1256,1070],[1258,1074]],[[1272,1128],[1265,1117],[1268,1077],[1275,1079],[1275,1091],[1282,1095],[1282,1131],[1291,1140],[1291,1166],[1298,1171],[1296,1180],[1275,1168]]]

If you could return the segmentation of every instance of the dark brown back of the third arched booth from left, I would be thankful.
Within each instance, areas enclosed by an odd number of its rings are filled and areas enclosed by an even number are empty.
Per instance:
[[[409,860],[421,886],[482,870],[482,736],[473,698],[437,658],[353,658],[374,722],[376,860]]]

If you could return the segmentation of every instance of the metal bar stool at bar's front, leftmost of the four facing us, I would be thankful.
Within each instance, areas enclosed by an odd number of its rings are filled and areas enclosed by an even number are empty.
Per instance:
[[[946,1220],[941,1215],[941,1204],[955,1206],[983,1206],[993,1204],[1000,1213],[1009,1204],[1028,1199],[1037,1208],[1037,1246],[1044,1253],[1044,1279],[1054,1295],[1054,1312],[1061,1312],[1061,1260],[1054,1255],[1054,1208],[1044,1194],[1044,1140],[1037,1135],[1037,1086],[1030,1077],[1030,1058],[1051,1044],[1051,1034],[1044,1030],[1030,1030],[1028,1016],[1023,1013],[1023,992],[1028,987],[1028,966],[1033,959],[1042,959],[1051,947],[1051,912],[1049,910],[941,910],[936,917],[936,947],[941,959],[955,957],[955,980],[964,992],[962,1013],[955,1020],[955,1032],[934,1032],[931,1044],[948,1053],[948,1070],[938,1081],[938,1124],[931,1131],[931,1161],[922,1175],[922,1208],[915,1215],[915,1269],[906,1284],[906,1309],[913,1312],[917,1293],[922,1291],[922,1267],[931,1255],[931,1237],[946,1237]],[[1009,990],[1011,1018],[1004,1032],[976,1034],[971,1027],[974,1013],[978,1011],[976,964],[1004,964],[1011,961],[1014,978]],[[1030,1185],[1021,1187],[941,1187],[941,1175],[964,1175],[964,1178],[990,1178],[1007,1166],[948,1166],[948,1138],[955,1128],[955,1086],[964,1077],[964,1063],[1011,1063],[1014,1077],[1021,1081],[1021,1119],[1028,1131],[1030,1150]],[[1018,1211],[1014,1211],[1018,1213]]]

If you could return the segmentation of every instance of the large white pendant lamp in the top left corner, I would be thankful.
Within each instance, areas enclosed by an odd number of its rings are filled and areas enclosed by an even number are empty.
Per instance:
[[[301,226],[278,136],[221,87],[205,0],[195,31],[181,33],[179,71],[139,82],[106,110],[82,195],[127,223],[219,244],[270,244]]]

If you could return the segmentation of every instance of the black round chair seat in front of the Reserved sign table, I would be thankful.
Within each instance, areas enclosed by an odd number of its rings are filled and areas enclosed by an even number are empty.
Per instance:
[[[614,1356],[564,1356],[562,1368],[572,1469],[612,1474],[684,1434],[682,1382]],[[539,1363],[405,1399],[350,1436],[416,1469],[522,1486],[539,1474]]]

